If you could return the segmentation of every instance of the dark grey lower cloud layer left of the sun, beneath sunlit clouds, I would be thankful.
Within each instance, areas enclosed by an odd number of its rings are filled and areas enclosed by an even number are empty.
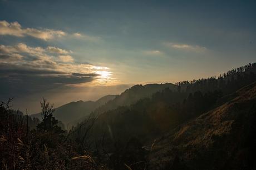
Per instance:
[[[66,72],[0,63],[0,100],[41,93],[71,84],[92,82],[97,76],[97,74],[85,75],[77,76]]]

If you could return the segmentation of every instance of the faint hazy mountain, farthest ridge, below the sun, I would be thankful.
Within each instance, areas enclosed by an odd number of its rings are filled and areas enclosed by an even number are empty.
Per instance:
[[[97,107],[105,104],[106,102],[114,99],[117,95],[107,95],[97,101],[77,101],[64,104],[61,107],[55,108],[53,115],[65,124],[76,122],[78,119],[83,118],[94,111]],[[32,114],[31,117],[41,118],[41,113]]]

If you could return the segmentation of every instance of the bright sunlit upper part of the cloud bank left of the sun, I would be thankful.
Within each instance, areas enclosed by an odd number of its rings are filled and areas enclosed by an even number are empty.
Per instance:
[[[63,50],[63,49],[62,49]],[[71,63],[73,57],[70,55],[50,56],[47,54],[48,48],[29,47],[24,43],[18,43],[16,46],[0,45],[1,62],[7,63],[4,59],[16,56],[21,61],[14,62],[16,65],[22,65],[30,68],[47,68],[64,71],[68,73],[96,73],[96,71],[107,70],[107,67],[93,66],[92,64]],[[7,57],[8,56],[8,57]]]

